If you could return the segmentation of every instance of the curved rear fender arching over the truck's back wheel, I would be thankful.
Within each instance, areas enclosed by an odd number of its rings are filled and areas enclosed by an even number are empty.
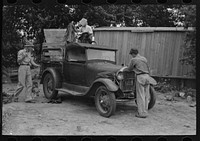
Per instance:
[[[47,73],[50,73],[53,76],[54,81],[56,82],[56,87],[57,88],[61,87],[62,77],[55,68],[47,68],[44,70],[44,72],[42,73],[42,78],[41,78],[40,84],[43,84],[44,77]]]

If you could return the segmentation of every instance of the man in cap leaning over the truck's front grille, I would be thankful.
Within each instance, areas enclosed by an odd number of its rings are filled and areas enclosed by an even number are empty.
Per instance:
[[[131,49],[132,59],[126,71],[134,71],[136,74],[136,101],[138,113],[136,117],[146,118],[148,116],[148,105],[150,101],[150,84],[156,85],[156,81],[150,77],[147,59],[138,53],[137,49]]]

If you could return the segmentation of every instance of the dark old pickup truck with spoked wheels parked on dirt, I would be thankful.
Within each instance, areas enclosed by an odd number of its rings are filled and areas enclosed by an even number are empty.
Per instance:
[[[116,49],[106,46],[69,43],[44,48],[41,60],[41,83],[48,99],[59,91],[75,96],[93,97],[96,109],[103,117],[115,113],[120,100],[135,100],[135,74],[116,65]],[[151,109],[156,101],[150,87]]]

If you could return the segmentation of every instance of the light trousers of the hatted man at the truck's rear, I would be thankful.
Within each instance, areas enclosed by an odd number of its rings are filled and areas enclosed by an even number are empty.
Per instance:
[[[33,95],[31,69],[30,66],[27,65],[21,65],[18,69],[18,84],[14,96],[18,97],[23,90],[26,95],[26,100],[32,100]]]

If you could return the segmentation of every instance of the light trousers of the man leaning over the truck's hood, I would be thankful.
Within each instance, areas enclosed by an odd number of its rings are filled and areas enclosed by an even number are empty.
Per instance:
[[[136,100],[138,105],[138,114],[147,115],[150,101],[150,84],[148,83],[148,74],[137,76],[136,79]],[[140,81],[140,80],[143,81]],[[144,83],[141,83],[144,82]]]

